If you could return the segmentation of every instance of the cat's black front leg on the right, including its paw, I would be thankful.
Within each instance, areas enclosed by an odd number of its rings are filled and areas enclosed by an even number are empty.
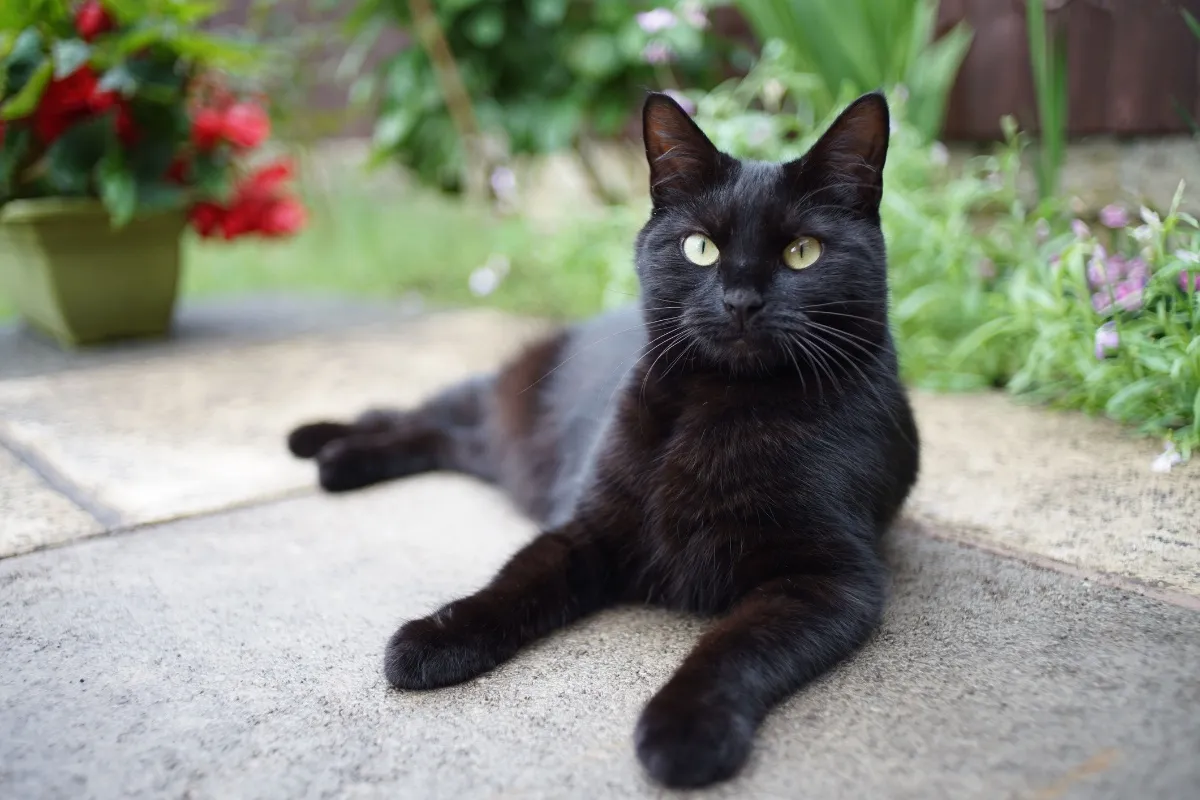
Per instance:
[[[646,770],[672,787],[733,776],[768,711],[875,628],[883,577],[876,557],[862,554],[748,593],[647,704],[635,734]]]

